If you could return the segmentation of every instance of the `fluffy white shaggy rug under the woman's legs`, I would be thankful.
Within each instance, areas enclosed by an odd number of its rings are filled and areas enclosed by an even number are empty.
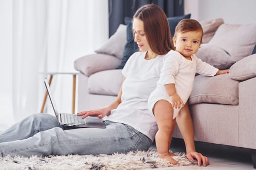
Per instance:
[[[184,153],[175,153],[179,166],[192,165]],[[0,158],[1,170],[143,170],[173,167],[158,158],[155,150],[130,152],[127,154],[67,155],[38,157]]]

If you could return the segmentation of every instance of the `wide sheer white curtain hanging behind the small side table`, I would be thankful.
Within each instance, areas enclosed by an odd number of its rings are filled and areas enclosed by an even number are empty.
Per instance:
[[[0,17],[0,23],[8,23],[12,38],[5,37],[11,52],[0,52],[7,54],[0,55],[1,64],[11,58],[0,70],[3,74],[7,69],[4,98],[9,101],[0,106],[0,118],[13,116],[17,122],[40,110],[45,93],[41,72],[75,72],[74,61],[107,40],[108,0],[0,0],[0,8],[2,4],[12,17]],[[71,112],[72,76],[55,75],[52,91],[59,111]],[[46,107],[53,114],[50,105]]]

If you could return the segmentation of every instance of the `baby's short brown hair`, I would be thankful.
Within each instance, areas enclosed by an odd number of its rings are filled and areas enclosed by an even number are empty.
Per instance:
[[[202,43],[203,38],[203,28],[201,24],[196,19],[182,19],[179,21],[175,28],[174,37],[177,36],[177,33],[186,33],[190,31],[200,31],[202,32],[200,43]]]

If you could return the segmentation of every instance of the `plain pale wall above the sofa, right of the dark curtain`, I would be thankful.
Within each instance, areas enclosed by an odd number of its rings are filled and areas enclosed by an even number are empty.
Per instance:
[[[198,21],[222,17],[225,23],[256,23],[256,0],[184,0],[185,14]]]

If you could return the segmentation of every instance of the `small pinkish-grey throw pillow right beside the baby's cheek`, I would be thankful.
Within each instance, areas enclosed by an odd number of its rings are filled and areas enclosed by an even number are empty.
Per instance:
[[[201,44],[196,56],[220,70],[228,69],[236,62],[227,51],[212,44]]]

